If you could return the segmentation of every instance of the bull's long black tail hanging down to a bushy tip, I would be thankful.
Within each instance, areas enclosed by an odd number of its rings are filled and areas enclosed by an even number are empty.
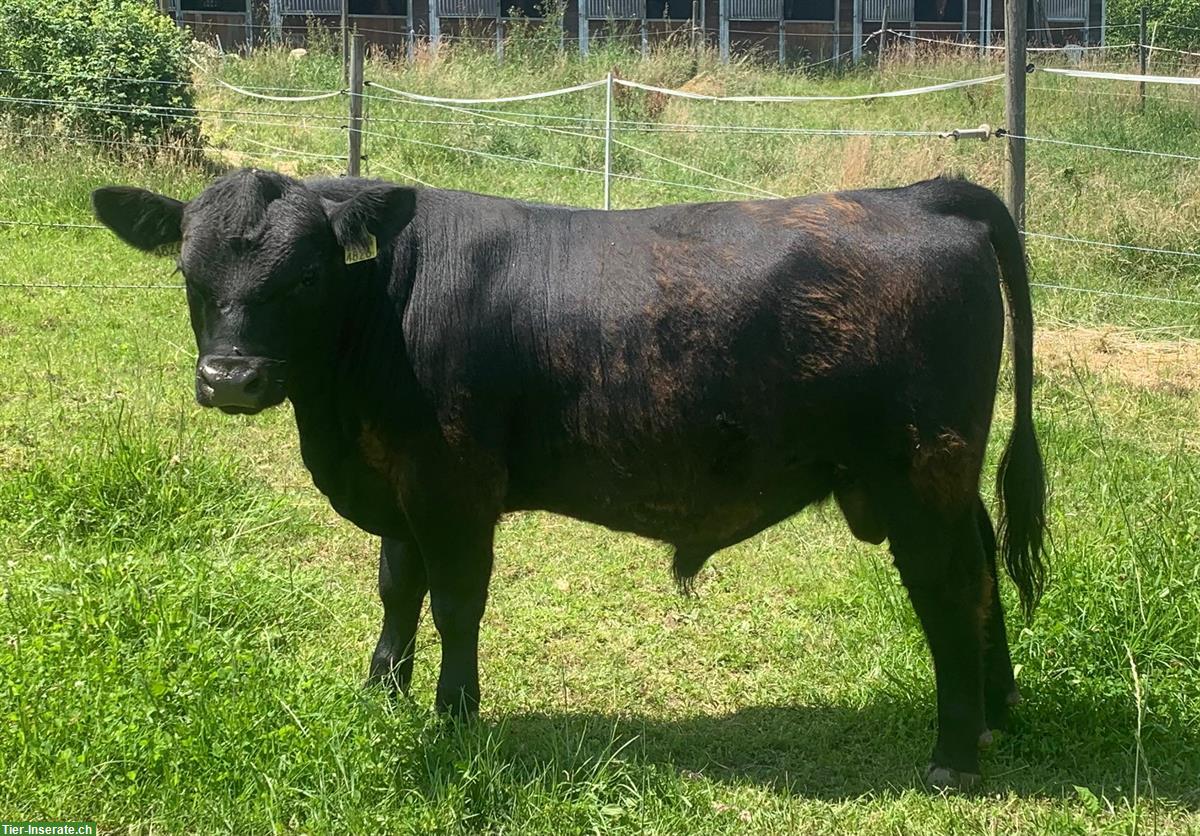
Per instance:
[[[992,192],[964,181],[937,181],[942,208],[988,223],[1013,323],[1013,432],[996,471],[1000,552],[1021,595],[1026,618],[1045,587],[1045,467],[1033,429],[1033,309],[1020,233]],[[944,190],[944,191],[943,191]],[[949,199],[947,199],[949,198]]]

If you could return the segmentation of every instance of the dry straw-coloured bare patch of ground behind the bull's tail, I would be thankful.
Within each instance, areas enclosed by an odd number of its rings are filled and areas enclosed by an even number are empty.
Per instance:
[[[1117,327],[1038,331],[1034,339],[1043,369],[1069,374],[1075,366],[1139,389],[1200,392],[1200,339],[1139,339]]]

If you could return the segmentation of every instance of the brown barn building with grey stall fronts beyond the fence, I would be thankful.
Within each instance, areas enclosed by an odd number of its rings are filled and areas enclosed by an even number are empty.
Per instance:
[[[758,50],[784,64],[847,59],[877,47],[887,29],[918,37],[991,43],[1004,0],[566,0],[563,43],[649,44],[702,37],[724,55]],[[172,0],[172,13],[223,49],[283,40],[301,46],[314,28],[341,25],[343,0]],[[1105,0],[1025,0],[1044,43],[1104,42]],[[368,44],[402,50],[415,38],[494,38],[515,18],[542,19],[541,0],[347,0],[349,25]],[[256,12],[263,19],[256,20]]]

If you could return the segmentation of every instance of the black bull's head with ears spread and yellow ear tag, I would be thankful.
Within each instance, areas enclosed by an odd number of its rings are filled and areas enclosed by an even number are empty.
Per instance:
[[[288,369],[332,351],[347,253],[380,243],[412,218],[409,188],[380,181],[305,184],[244,169],[182,203],[125,186],[92,208],[138,249],[179,247],[196,332],[196,399],[252,414],[289,393]]]

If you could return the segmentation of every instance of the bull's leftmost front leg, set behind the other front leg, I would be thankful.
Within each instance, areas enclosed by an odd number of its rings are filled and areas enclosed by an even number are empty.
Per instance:
[[[384,537],[379,547],[379,600],[383,628],[371,656],[368,682],[408,692],[413,681],[416,624],[428,584],[425,564],[413,543]]]

